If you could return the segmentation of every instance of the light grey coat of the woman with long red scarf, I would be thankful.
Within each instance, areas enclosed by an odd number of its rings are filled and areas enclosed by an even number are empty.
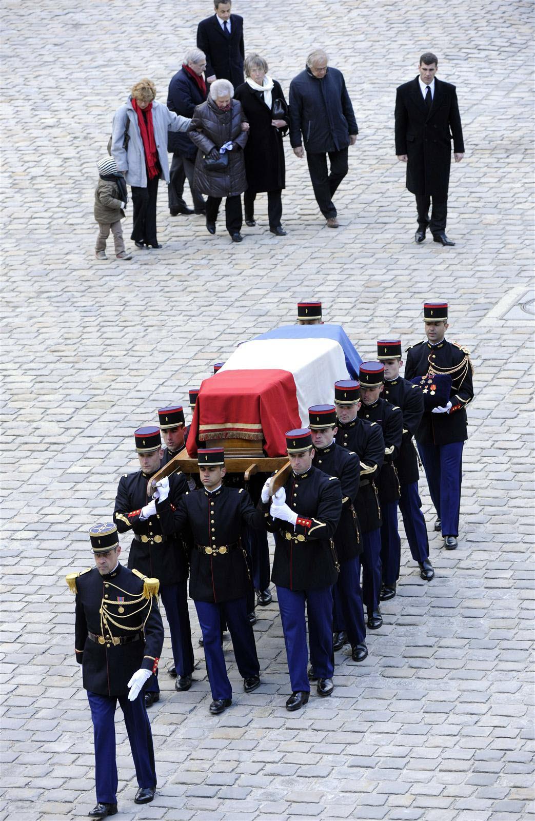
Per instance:
[[[130,120],[128,148],[125,151],[126,120]],[[181,117],[169,111],[166,105],[153,100],[154,140],[158,149],[158,159],[162,168],[162,177],[169,182],[169,159],[167,157],[167,131],[187,131],[190,127],[188,117]],[[121,105],[113,117],[112,157],[119,171],[123,172],[129,186],[147,187],[147,166],[143,141],[139,132],[138,116],[132,106],[132,98],[126,105]]]

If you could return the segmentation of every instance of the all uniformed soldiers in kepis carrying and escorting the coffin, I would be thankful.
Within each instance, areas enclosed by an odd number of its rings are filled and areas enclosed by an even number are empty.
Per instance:
[[[321,302],[298,305],[298,323],[322,319]],[[212,696],[208,712],[218,715],[234,695],[226,631],[245,693],[269,673],[258,663],[254,611],[272,602],[271,570],[290,680],[286,710],[293,713],[308,703],[312,687],[321,698],[332,695],[335,651],[348,645],[357,664],[368,657],[367,631],[381,629],[381,603],[396,596],[400,577],[398,510],[415,571],[424,582],[435,576],[418,462],[436,511],[432,528],[442,548],[457,548],[473,369],[469,351],[446,340],[446,302],[423,305],[423,327],[423,342],[406,348],[404,377],[402,341],[380,339],[373,359],[359,365],[358,380],[336,381],[332,402],[310,405],[308,425],[286,431],[290,467],[276,490],[269,474],[249,481],[226,475],[231,457],[209,442],[199,443],[199,474],[176,470],[153,484],[185,447],[184,408],[160,408],[158,425],[135,430],[139,470],[121,477],[110,520],[90,527],[94,566],[66,577],[75,594],[75,658],[94,725],[91,818],[117,813],[117,700],[135,764],[135,803],[155,795],[147,709],[160,699],[160,603],[171,639],[167,673],[180,698],[195,684],[189,593]],[[198,394],[190,390],[192,412]],[[131,537],[127,566],[119,534]]]

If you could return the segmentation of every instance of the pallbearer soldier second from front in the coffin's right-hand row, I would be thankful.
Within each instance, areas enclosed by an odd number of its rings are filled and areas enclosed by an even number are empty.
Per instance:
[[[327,476],[340,479],[342,492],[342,513],[340,522],[332,537],[336,556],[340,563],[340,573],[334,585],[336,591],[334,617],[335,633],[333,648],[341,649],[345,644],[345,633],[351,644],[351,657],[362,662],[368,656],[366,646],[366,626],[360,589],[360,554],[363,551],[359,533],[359,521],[354,504],[359,493],[359,456],[347,448],[337,445],[334,437],[336,428],[336,408],[334,405],[315,405],[309,408],[309,428],[315,454],[313,466]],[[345,632],[336,631],[336,603],[343,614]],[[336,646],[338,644],[338,646]],[[309,678],[310,678],[309,671]]]

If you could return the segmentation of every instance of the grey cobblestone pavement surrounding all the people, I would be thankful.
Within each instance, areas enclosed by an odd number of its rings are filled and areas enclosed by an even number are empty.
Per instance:
[[[187,403],[214,361],[291,322],[304,297],[322,299],[363,355],[391,333],[418,341],[423,300],[449,300],[449,337],[476,369],[460,547],[446,555],[430,533],[437,576],[426,584],[404,542],[399,593],[368,636],[368,659],[336,654],[334,695],[313,695],[297,715],[284,709],[276,603],[258,608],[254,694],[240,690],[226,644],[235,703],[220,718],[208,717],[199,651],[194,686],[173,690],[166,639],[162,700],[150,710],[158,794],[134,805],[118,721],[118,817],[531,817],[531,3],[235,0],[247,50],[268,57],[286,90],[313,45],[345,72],[361,132],[336,196],[341,228],[324,227],[306,163],[288,150],[286,238],[268,233],[263,197],[257,227],[231,245],[221,222],[210,237],[202,218],[170,218],[161,185],[162,250],[98,263],[93,191],[112,112],[140,76],[166,99],[210,6],[3,3],[2,819],[79,817],[94,805],[63,577],[91,563],[87,530],[110,518],[118,477],[135,469],[133,430],[154,423],[158,406]],[[451,169],[455,248],[414,245],[413,198],[394,156],[396,85],[428,48],[458,86],[467,146]],[[130,219],[129,207],[126,236]]]

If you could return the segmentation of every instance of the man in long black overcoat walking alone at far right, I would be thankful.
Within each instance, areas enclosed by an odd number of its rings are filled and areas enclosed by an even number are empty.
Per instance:
[[[437,80],[437,65],[435,54],[424,53],[418,76],[396,91],[396,155],[407,163],[406,186],[416,195],[417,245],[424,241],[428,227],[435,242],[455,245],[446,236],[451,140],[455,163],[460,163],[464,157],[463,130],[455,85]]]

